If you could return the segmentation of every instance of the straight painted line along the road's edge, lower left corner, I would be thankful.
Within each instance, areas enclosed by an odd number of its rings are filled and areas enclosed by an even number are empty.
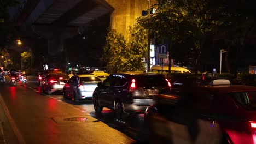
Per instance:
[[[17,125],[15,124],[13,117],[11,117],[10,112],[9,112],[7,106],[5,105],[4,100],[3,100],[1,94],[0,94],[0,103],[3,106],[4,112],[5,112],[5,114],[6,114],[7,118],[8,118],[8,121],[9,121],[9,123],[11,125],[11,128],[13,128],[14,134],[16,135],[19,143],[25,144],[26,142],[25,142],[24,138],[22,137],[22,135],[20,133],[20,130],[18,129]]]

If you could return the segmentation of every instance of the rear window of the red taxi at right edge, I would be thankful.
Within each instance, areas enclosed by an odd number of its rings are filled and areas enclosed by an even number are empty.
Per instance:
[[[254,92],[230,92],[229,95],[247,110],[256,110],[256,91]]]

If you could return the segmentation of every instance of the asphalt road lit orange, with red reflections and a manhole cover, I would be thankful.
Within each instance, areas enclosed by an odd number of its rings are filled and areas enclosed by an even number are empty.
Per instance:
[[[42,93],[34,76],[16,86],[7,76],[0,102],[0,143],[147,143],[142,114],[122,121],[109,109],[96,115],[90,99]]]

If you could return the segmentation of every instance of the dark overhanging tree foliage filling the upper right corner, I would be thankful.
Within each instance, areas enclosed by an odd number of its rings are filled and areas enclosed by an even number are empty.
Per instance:
[[[158,0],[153,5],[156,13],[138,17],[137,22],[159,40],[168,38],[176,46],[172,49],[187,44],[179,53],[171,51],[171,57],[187,55],[197,69],[202,49],[209,49],[204,47],[207,35],[224,35],[238,46],[237,54],[241,51],[245,38],[255,31],[255,4],[253,0]]]

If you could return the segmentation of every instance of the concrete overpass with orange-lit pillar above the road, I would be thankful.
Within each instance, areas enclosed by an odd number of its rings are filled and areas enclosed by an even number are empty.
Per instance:
[[[20,0],[13,18],[26,33],[37,33],[48,40],[48,53],[63,52],[67,38],[83,32],[89,22],[110,14],[110,25],[129,37],[128,26],[133,25],[142,10],[155,0]],[[152,1],[152,2],[151,2]]]

